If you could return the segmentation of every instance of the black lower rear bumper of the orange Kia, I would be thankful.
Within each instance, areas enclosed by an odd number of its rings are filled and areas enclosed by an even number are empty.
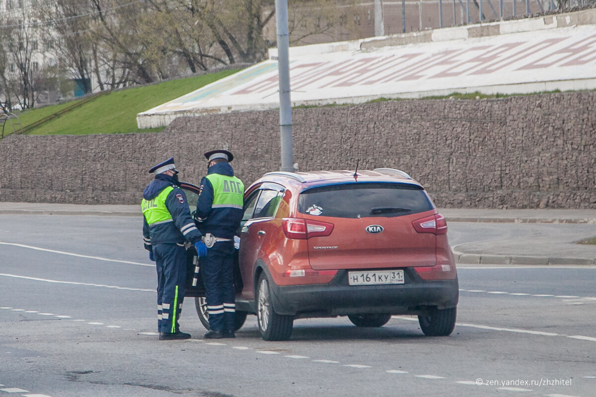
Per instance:
[[[405,269],[401,285],[350,286],[342,270],[328,284],[269,287],[275,312],[297,317],[423,314],[429,307],[456,307],[460,295],[457,278],[425,281],[411,268]]]

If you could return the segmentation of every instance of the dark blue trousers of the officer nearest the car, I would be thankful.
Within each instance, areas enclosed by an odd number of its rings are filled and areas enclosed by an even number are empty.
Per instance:
[[[209,329],[215,331],[234,332],[236,304],[233,249],[232,241],[217,242],[207,249],[207,256],[201,258]]]

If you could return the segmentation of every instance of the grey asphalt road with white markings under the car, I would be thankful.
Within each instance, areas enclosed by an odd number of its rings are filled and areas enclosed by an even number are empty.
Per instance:
[[[425,337],[413,317],[334,318],[265,342],[249,316],[236,339],[210,342],[188,300],[193,339],[160,342],[139,219],[0,215],[0,397],[594,395],[596,268],[459,276],[449,337]]]

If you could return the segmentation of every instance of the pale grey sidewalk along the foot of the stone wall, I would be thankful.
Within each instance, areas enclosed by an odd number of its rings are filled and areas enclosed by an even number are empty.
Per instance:
[[[596,265],[596,210],[439,209],[460,264]],[[140,205],[0,202],[0,215],[141,217]]]

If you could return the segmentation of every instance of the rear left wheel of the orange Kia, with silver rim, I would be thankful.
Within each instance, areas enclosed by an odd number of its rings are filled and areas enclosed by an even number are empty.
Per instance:
[[[271,302],[271,290],[265,274],[259,277],[257,289],[257,323],[265,340],[288,340],[294,325],[293,315],[277,314]]]

